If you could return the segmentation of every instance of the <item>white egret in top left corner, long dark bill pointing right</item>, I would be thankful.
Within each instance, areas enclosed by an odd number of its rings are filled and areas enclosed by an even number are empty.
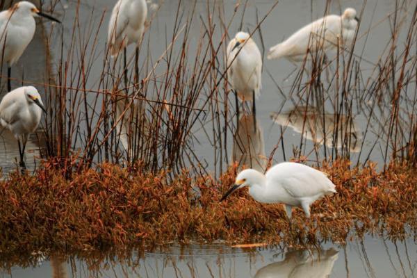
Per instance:
[[[46,17],[54,22],[60,23],[58,19],[41,13],[33,3],[20,1],[0,13],[0,51],[1,63],[8,63],[8,91],[10,92],[10,76],[12,66],[22,56],[24,50],[31,42],[35,34],[34,17]]]

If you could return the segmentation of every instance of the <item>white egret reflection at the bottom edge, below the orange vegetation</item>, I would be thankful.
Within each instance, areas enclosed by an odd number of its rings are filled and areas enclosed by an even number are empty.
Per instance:
[[[330,275],[334,262],[338,259],[338,251],[329,250],[297,250],[287,252],[284,261],[270,263],[256,272],[256,278],[325,278]]]

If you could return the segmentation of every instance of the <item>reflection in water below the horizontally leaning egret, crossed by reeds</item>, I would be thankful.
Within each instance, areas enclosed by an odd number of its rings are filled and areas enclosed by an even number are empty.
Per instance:
[[[313,106],[295,106],[286,113],[272,113],[271,118],[281,126],[290,126],[297,133],[304,132],[304,136],[316,144],[337,149],[348,145],[350,152],[361,150],[362,133],[357,123],[347,115],[323,114]]]

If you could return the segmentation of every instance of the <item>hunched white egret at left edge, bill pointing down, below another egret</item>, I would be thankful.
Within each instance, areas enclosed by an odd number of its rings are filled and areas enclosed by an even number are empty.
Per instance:
[[[19,145],[20,166],[25,168],[24,149],[30,133],[40,123],[42,111],[46,113],[38,90],[32,86],[8,92],[0,102],[0,126],[9,129]]]

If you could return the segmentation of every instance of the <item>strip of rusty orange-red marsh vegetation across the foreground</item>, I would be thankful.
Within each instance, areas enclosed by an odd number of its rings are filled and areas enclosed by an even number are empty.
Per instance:
[[[338,193],[311,207],[307,220],[293,213],[290,227],[281,205],[255,202],[240,190],[226,202],[234,182],[230,168],[217,181],[188,172],[168,179],[140,165],[102,164],[70,178],[54,162],[33,176],[10,174],[0,181],[0,253],[81,251],[133,245],[214,242],[315,245],[345,243],[351,236],[383,233],[416,236],[417,174],[405,163],[377,172],[373,163],[323,163]]]

